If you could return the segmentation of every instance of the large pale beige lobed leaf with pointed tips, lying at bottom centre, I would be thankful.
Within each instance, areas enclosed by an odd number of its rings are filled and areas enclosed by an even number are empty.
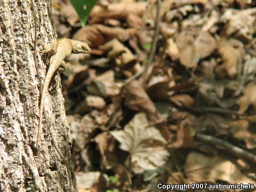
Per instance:
[[[120,142],[120,149],[130,152],[132,171],[135,173],[157,169],[169,156],[163,147],[166,140],[157,128],[149,127],[144,113],[136,114],[124,130],[110,134]]]

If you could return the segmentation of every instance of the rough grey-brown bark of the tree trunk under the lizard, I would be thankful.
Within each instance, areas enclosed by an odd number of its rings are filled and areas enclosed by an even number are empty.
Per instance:
[[[51,22],[51,1],[34,1],[37,39],[45,44],[53,43],[57,36]],[[35,148],[40,82],[45,78],[49,56],[37,51],[37,74],[33,59],[34,19],[31,0],[0,0],[0,191],[73,191],[45,118],[38,152]],[[57,145],[71,165],[72,137],[59,82],[60,76],[55,75],[45,109]]]

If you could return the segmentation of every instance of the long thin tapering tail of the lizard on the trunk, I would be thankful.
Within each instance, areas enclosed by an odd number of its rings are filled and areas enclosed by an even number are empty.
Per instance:
[[[40,102],[40,109],[39,109],[39,124],[38,124],[38,136],[37,136],[37,143],[36,147],[38,150],[38,145],[40,141],[40,134],[42,131],[42,118],[43,118],[43,112],[44,112],[44,105],[45,105],[45,96],[48,93],[48,87],[51,81],[51,78],[53,76],[53,73],[55,72],[54,68],[49,68],[46,77],[45,77],[45,82],[42,90],[42,96],[41,96],[41,102]]]

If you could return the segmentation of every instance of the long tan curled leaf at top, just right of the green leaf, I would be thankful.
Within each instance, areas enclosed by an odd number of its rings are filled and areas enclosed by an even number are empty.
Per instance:
[[[146,11],[145,2],[121,1],[106,7],[94,6],[89,23],[102,23],[105,19],[126,19],[129,14],[142,15]]]

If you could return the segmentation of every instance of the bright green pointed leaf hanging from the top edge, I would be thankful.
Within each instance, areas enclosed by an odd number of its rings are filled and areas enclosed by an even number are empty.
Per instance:
[[[84,27],[90,11],[98,0],[71,0],[71,4],[79,15],[81,25]]]

